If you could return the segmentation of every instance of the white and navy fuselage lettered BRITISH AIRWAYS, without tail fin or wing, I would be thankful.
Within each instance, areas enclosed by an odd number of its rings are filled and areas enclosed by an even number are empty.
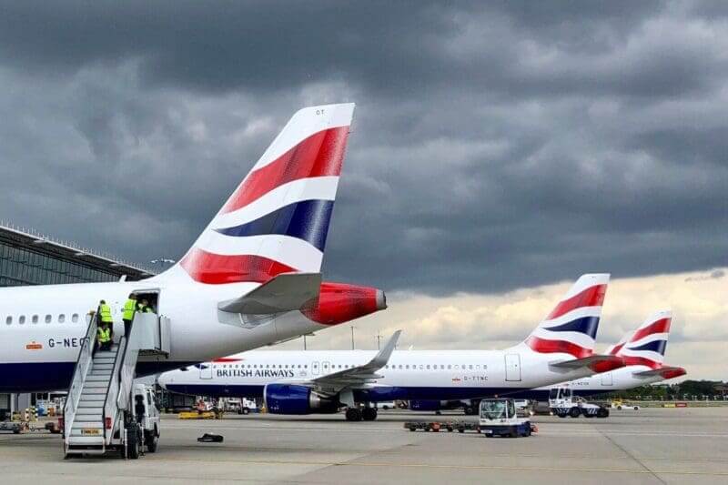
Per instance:
[[[363,365],[375,354],[368,350],[247,352],[166,372],[158,382],[186,394],[260,397],[266,384],[316,379]],[[359,401],[522,396],[530,389],[592,373],[588,368],[550,366],[570,359],[568,354],[541,354],[522,345],[507,350],[394,351],[377,372],[381,379],[354,393]]]

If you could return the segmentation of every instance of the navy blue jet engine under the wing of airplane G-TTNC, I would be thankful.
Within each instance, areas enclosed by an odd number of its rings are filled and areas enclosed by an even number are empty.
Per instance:
[[[271,414],[331,414],[339,411],[338,399],[321,396],[306,386],[268,384],[263,398]]]

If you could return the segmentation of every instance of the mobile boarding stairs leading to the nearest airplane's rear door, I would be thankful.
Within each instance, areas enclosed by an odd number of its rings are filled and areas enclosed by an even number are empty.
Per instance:
[[[94,354],[96,317],[87,318],[86,338],[78,352],[66,397],[66,458],[108,450],[121,450],[122,456],[127,456],[128,447],[138,450],[142,438],[134,419],[132,399],[136,360],[142,355],[169,357],[169,318],[137,312],[128,337],[115,335],[110,351],[98,349]]]

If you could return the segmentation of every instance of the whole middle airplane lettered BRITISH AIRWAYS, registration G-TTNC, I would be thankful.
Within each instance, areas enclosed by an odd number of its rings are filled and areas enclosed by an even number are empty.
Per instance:
[[[622,367],[593,354],[607,274],[583,275],[523,342],[505,350],[255,351],[157,378],[164,389],[209,397],[262,397],[275,414],[333,413],[373,420],[369,403],[396,399],[529,396],[531,389]],[[389,354],[388,354],[389,352]],[[389,359],[385,359],[389,356]],[[363,404],[363,409],[359,404]]]

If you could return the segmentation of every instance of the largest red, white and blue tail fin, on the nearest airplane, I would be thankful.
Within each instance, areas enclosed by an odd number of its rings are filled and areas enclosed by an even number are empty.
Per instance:
[[[298,111],[173,270],[208,285],[318,273],[353,113]]]

